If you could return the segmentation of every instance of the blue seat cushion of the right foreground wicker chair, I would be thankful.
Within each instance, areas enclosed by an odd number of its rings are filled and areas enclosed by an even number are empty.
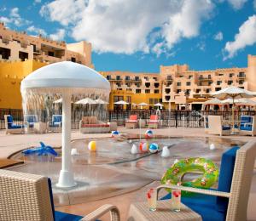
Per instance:
[[[170,198],[171,194],[168,194],[161,200]],[[202,194],[182,195],[181,199],[184,205],[199,213],[204,221],[225,220],[226,213],[216,210],[216,196]]]

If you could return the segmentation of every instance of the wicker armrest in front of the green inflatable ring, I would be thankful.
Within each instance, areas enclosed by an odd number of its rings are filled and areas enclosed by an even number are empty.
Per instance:
[[[205,195],[217,195],[222,196],[226,198],[230,198],[230,193],[222,192],[218,190],[206,190],[206,189],[198,189],[193,187],[186,187],[182,185],[173,185],[173,184],[163,184],[156,188],[156,199],[158,199],[158,194],[161,189],[175,189],[175,190],[184,190],[192,193],[199,193],[199,194],[205,194]]]

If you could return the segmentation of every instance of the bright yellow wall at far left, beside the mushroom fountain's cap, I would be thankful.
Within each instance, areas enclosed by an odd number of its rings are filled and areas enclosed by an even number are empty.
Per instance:
[[[21,109],[20,82],[32,71],[47,65],[36,60],[0,63],[0,108]]]

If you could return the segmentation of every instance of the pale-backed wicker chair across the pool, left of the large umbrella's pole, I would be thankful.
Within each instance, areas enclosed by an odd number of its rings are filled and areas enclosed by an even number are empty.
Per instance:
[[[224,126],[222,116],[208,116],[208,133],[220,136],[230,135],[231,127]]]

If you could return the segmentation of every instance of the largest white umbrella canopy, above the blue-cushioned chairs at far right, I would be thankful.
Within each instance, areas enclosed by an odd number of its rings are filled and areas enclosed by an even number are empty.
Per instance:
[[[229,87],[211,94],[218,99],[241,99],[241,98],[253,98],[255,93],[247,91],[242,88]]]

